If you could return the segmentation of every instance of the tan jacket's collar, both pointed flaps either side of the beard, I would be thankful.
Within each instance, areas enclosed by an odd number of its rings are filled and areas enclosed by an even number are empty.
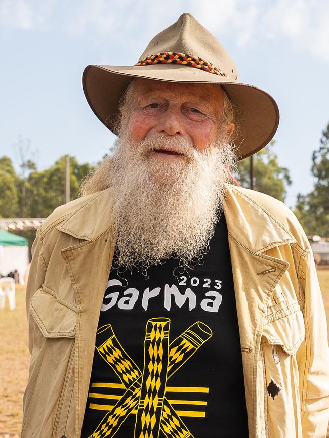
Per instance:
[[[257,197],[270,199],[271,205],[274,205],[272,212],[262,206]],[[78,239],[95,241],[113,226],[111,198],[111,189],[87,196],[86,201],[57,227],[58,230]],[[234,240],[255,255],[274,246],[296,242],[294,236],[277,219],[280,209],[282,204],[266,195],[227,185],[224,214],[228,232]]]

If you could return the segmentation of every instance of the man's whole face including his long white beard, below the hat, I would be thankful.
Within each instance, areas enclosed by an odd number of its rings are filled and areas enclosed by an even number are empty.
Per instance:
[[[207,248],[236,160],[221,126],[223,91],[131,86],[109,172],[118,264],[145,269],[175,256],[187,266]]]

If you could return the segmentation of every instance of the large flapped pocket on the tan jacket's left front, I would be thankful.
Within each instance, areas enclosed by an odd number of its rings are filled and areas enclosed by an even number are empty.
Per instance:
[[[63,430],[74,429],[74,414],[68,418],[67,413],[74,412],[75,328],[79,310],[45,285],[34,293],[29,309],[36,326],[21,436],[57,438],[59,425]],[[61,432],[60,436],[64,434]]]

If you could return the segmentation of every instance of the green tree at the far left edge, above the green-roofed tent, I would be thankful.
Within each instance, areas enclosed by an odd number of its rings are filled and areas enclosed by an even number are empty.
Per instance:
[[[17,186],[19,178],[16,175],[9,157],[0,158],[0,217],[17,217],[19,212],[19,197]]]

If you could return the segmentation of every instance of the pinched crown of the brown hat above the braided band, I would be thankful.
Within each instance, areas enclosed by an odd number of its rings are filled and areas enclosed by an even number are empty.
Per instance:
[[[154,36],[139,60],[156,53],[179,52],[211,62],[230,79],[238,80],[237,67],[221,43],[189,13]]]

